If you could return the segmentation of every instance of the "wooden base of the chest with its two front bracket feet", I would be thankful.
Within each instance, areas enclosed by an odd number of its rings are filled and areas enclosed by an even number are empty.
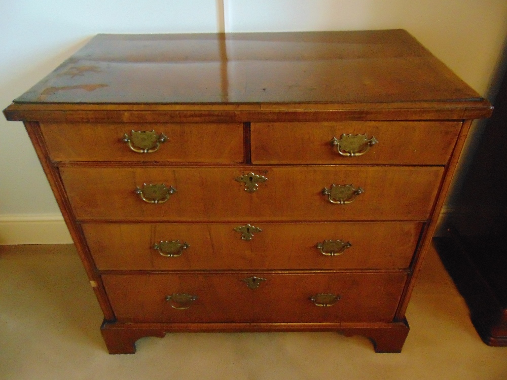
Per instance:
[[[110,354],[134,354],[135,342],[167,332],[293,332],[336,331],[345,336],[363,335],[377,353],[400,353],[409,333],[406,319],[392,323],[109,323],[100,328]]]

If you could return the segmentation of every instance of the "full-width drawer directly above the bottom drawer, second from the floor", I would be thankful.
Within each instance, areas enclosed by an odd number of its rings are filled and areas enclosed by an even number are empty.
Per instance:
[[[82,228],[99,270],[403,269],[422,223],[261,222],[255,226],[262,231],[251,240],[242,240],[236,226],[85,223]]]

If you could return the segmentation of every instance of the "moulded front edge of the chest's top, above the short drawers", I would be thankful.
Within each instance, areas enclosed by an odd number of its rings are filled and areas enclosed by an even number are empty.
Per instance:
[[[9,121],[38,122],[297,122],[371,120],[463,120],[487,118],[485,99],[434,103],[336,104],[58,104],[12,103]]]

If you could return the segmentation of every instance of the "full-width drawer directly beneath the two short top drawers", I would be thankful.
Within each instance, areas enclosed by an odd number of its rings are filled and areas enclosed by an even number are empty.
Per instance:
[[[265,176],[249,193],[235,179],[255,170]],[[150,221],[425,220],[442,167],[62,167],[60,175],[78,219]],[[135,193],[143,183],[176,190],[165,203]],[[324,195],[332,184],[364,189],[349,204]],[[333,192],[340,192],[335,187]],[[351,194],[350,197],[353,197]],[[335,198],[334,198],[335,197]],[[145,197],[146,198],[146,197]]]

